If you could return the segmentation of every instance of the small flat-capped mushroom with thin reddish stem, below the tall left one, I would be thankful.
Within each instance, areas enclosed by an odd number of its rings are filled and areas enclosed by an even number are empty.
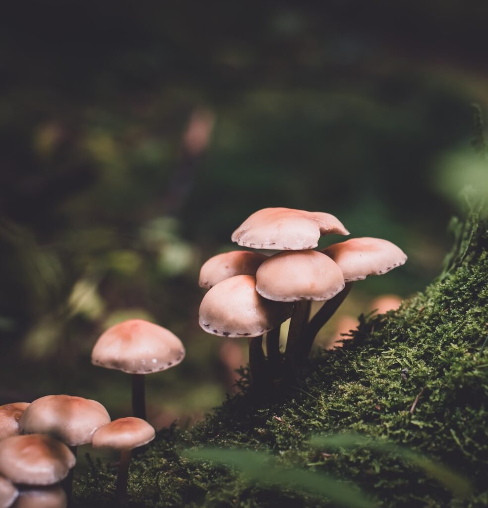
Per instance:
[[[116,496],[119,506],[127,501],[127,478],[131,450],[144,446],[154,439],[154,429],[145,420],[134,417],[119,418],[97,430],[93,435],[93,448],[120,450]]]

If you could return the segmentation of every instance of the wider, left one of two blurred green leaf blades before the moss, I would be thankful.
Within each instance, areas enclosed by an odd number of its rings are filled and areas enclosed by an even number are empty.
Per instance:
[[[286,489],[294,486],[313,494],[325,496],[343,506],[357,506],[358,508],[376,506],[365,494],[352,488],[349,483],[339,482],[322,473],[302,469],[285,469],[273,464],[273,458],[264,452],[203,448],[186,450],[183,455],[194,460],[220,462],[239,469],[251,481],[266,482]]]

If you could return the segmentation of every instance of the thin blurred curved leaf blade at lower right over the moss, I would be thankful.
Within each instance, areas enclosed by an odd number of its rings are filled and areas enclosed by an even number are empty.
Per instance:
[[[424,469],[457,497],[466,497],[471,492],[470,482],[462,474],[453,471],[440,462],[412,452],[393,442],[378,441],[359,434],[334,434],[331,436],[315,436],[312,438],[311,444],[317,448],[364,447],[381,453],[398,455],[403,460]]]

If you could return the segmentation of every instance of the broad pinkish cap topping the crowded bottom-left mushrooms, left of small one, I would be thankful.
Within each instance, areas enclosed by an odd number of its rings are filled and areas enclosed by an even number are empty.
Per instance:
[[[69,446],[91,442],[95,430],[110,423],[107,409],[96,400],[46,395],[32,402],[20,418],[24,434],[48,434]]]

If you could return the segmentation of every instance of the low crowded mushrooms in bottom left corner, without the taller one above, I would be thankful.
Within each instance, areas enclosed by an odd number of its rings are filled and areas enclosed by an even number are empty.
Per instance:
[[[0,436],[0,508],[14,502],[15,508],[64,508],[71,500],[78,446],[121,451],[116,492],[123,506],[130,450],[152,441],[155,432],[139,418],[111,422],[96,400],[47,395],[0,406]]]

